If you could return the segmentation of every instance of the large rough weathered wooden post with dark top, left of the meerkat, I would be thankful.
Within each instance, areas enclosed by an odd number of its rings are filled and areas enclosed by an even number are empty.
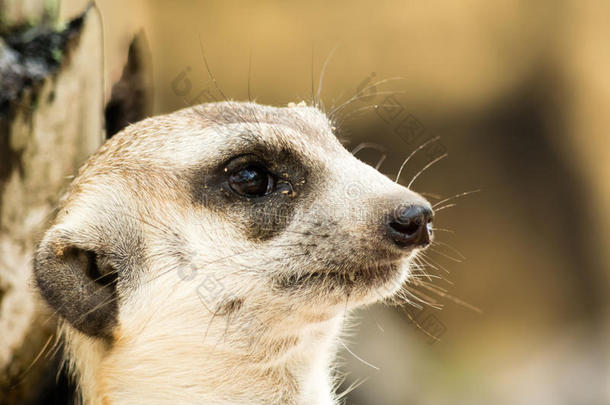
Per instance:
[[[44,395],[55,325],[32,289],[32,251],[70,177],[104,139],[99,15],[90,8],[56,31],[51,3],[0,0],[0,403],[7,404]]]

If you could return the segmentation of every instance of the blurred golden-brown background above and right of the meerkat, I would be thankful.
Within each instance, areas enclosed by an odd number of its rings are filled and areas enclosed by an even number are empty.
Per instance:
[[[65,0],[73,15],[84,1]],[[439,311],[377,305],[355,317],[343,387],[349,404],[610,403],[610,3],[604,1],[211,2],[98,0],[107,83],[133,34],[150,49],[154,113],[221,99],[311,98],[324,61],[327,108],[376,86],[339,115],[353,148],[388,151],[395,176],[418,144],[366,106],[398,91],[404,116],[441,136],[449,157],[414,184],[442,210],[446,245],[428,257],[449,293]],[[313,77],[313,79],[312,79]],[[110,89],[107,85],[107,93]],[[361,156],[375,164],[370,151]],[[430,161],[420,154],[408,183]],[[438,196],[438,198],[435,198]],[[440,341],[421,329],[432,329]]]

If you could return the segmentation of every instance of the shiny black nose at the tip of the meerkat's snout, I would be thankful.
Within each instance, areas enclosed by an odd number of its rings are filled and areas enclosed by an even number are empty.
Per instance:
[[[423,205],[401,205],[388,222],[388,234],[402,248],[430,244],[432,210]]]

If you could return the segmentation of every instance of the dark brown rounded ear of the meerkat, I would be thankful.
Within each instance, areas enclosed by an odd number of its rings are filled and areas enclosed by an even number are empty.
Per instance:
[[[46,302],[79,331],[111,338],[117,324],[117,272],[103,255],[45,235],[34,257],[36,286]]]

